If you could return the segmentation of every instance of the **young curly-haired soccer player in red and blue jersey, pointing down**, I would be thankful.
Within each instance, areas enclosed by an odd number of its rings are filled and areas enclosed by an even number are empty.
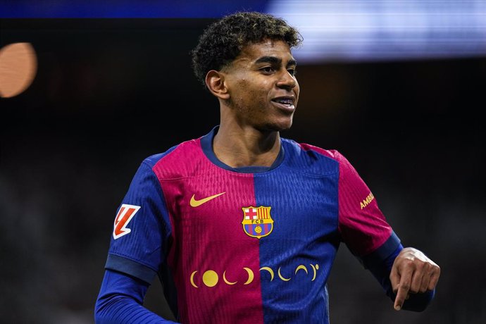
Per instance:
[[[182,323],[329,323],[340,242],[395,309],[429,304],[440,268],[402,247],[347,159],[280,137],[299,99],[299,42],[261,13],[206,29],[193,65],[220,123],[139,166],[116,214],[96,323],[169,323],[142,306],[156,276]]]

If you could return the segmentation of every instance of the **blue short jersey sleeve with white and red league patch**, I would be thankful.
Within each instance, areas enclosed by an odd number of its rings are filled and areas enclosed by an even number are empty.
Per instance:
[[[160,182],[144,161],[116,212],[105,268],[151,283],[166,259],[168,219]]]

